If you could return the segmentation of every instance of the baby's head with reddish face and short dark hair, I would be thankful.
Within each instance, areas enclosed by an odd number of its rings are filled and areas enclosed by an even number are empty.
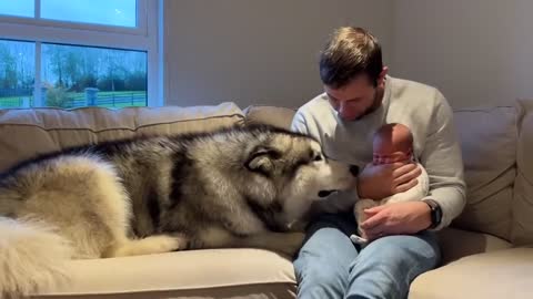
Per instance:
[[[385,124],[375,132],[372,147],[374,164],[409,162],[413,156],[413,135],[403,124]]]

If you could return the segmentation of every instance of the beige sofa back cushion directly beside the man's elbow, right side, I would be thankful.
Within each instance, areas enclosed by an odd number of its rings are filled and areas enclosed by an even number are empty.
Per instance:
[[[516,176],[515,107],[454,112],[464,162],[467,203],[454,226],[510,239]]]

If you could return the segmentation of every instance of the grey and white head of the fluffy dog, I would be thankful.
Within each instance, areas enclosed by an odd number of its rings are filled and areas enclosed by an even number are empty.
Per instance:
[[[290,132],[268,133],[250,150],[245,167],[254,182],[251,192],[258,193],[253,197],[275,192],[283,214],[294,215],[289,218],[301,216],[313,200],[353,188],[356,176],[353,166],[329,159],[315,140]]]

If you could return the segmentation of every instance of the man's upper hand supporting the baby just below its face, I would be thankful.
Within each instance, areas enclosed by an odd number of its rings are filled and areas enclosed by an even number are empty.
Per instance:
[[[414,163],[366,164],[358,176],[359,198],[382,199],[418,184],[422,171]]]

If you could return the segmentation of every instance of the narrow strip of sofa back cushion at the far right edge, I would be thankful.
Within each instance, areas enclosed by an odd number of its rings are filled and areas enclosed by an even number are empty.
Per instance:
[[[533,245],[533,101],[519,100],[517,105],[523,117],[519,126],[512,240],[516,245]]]

